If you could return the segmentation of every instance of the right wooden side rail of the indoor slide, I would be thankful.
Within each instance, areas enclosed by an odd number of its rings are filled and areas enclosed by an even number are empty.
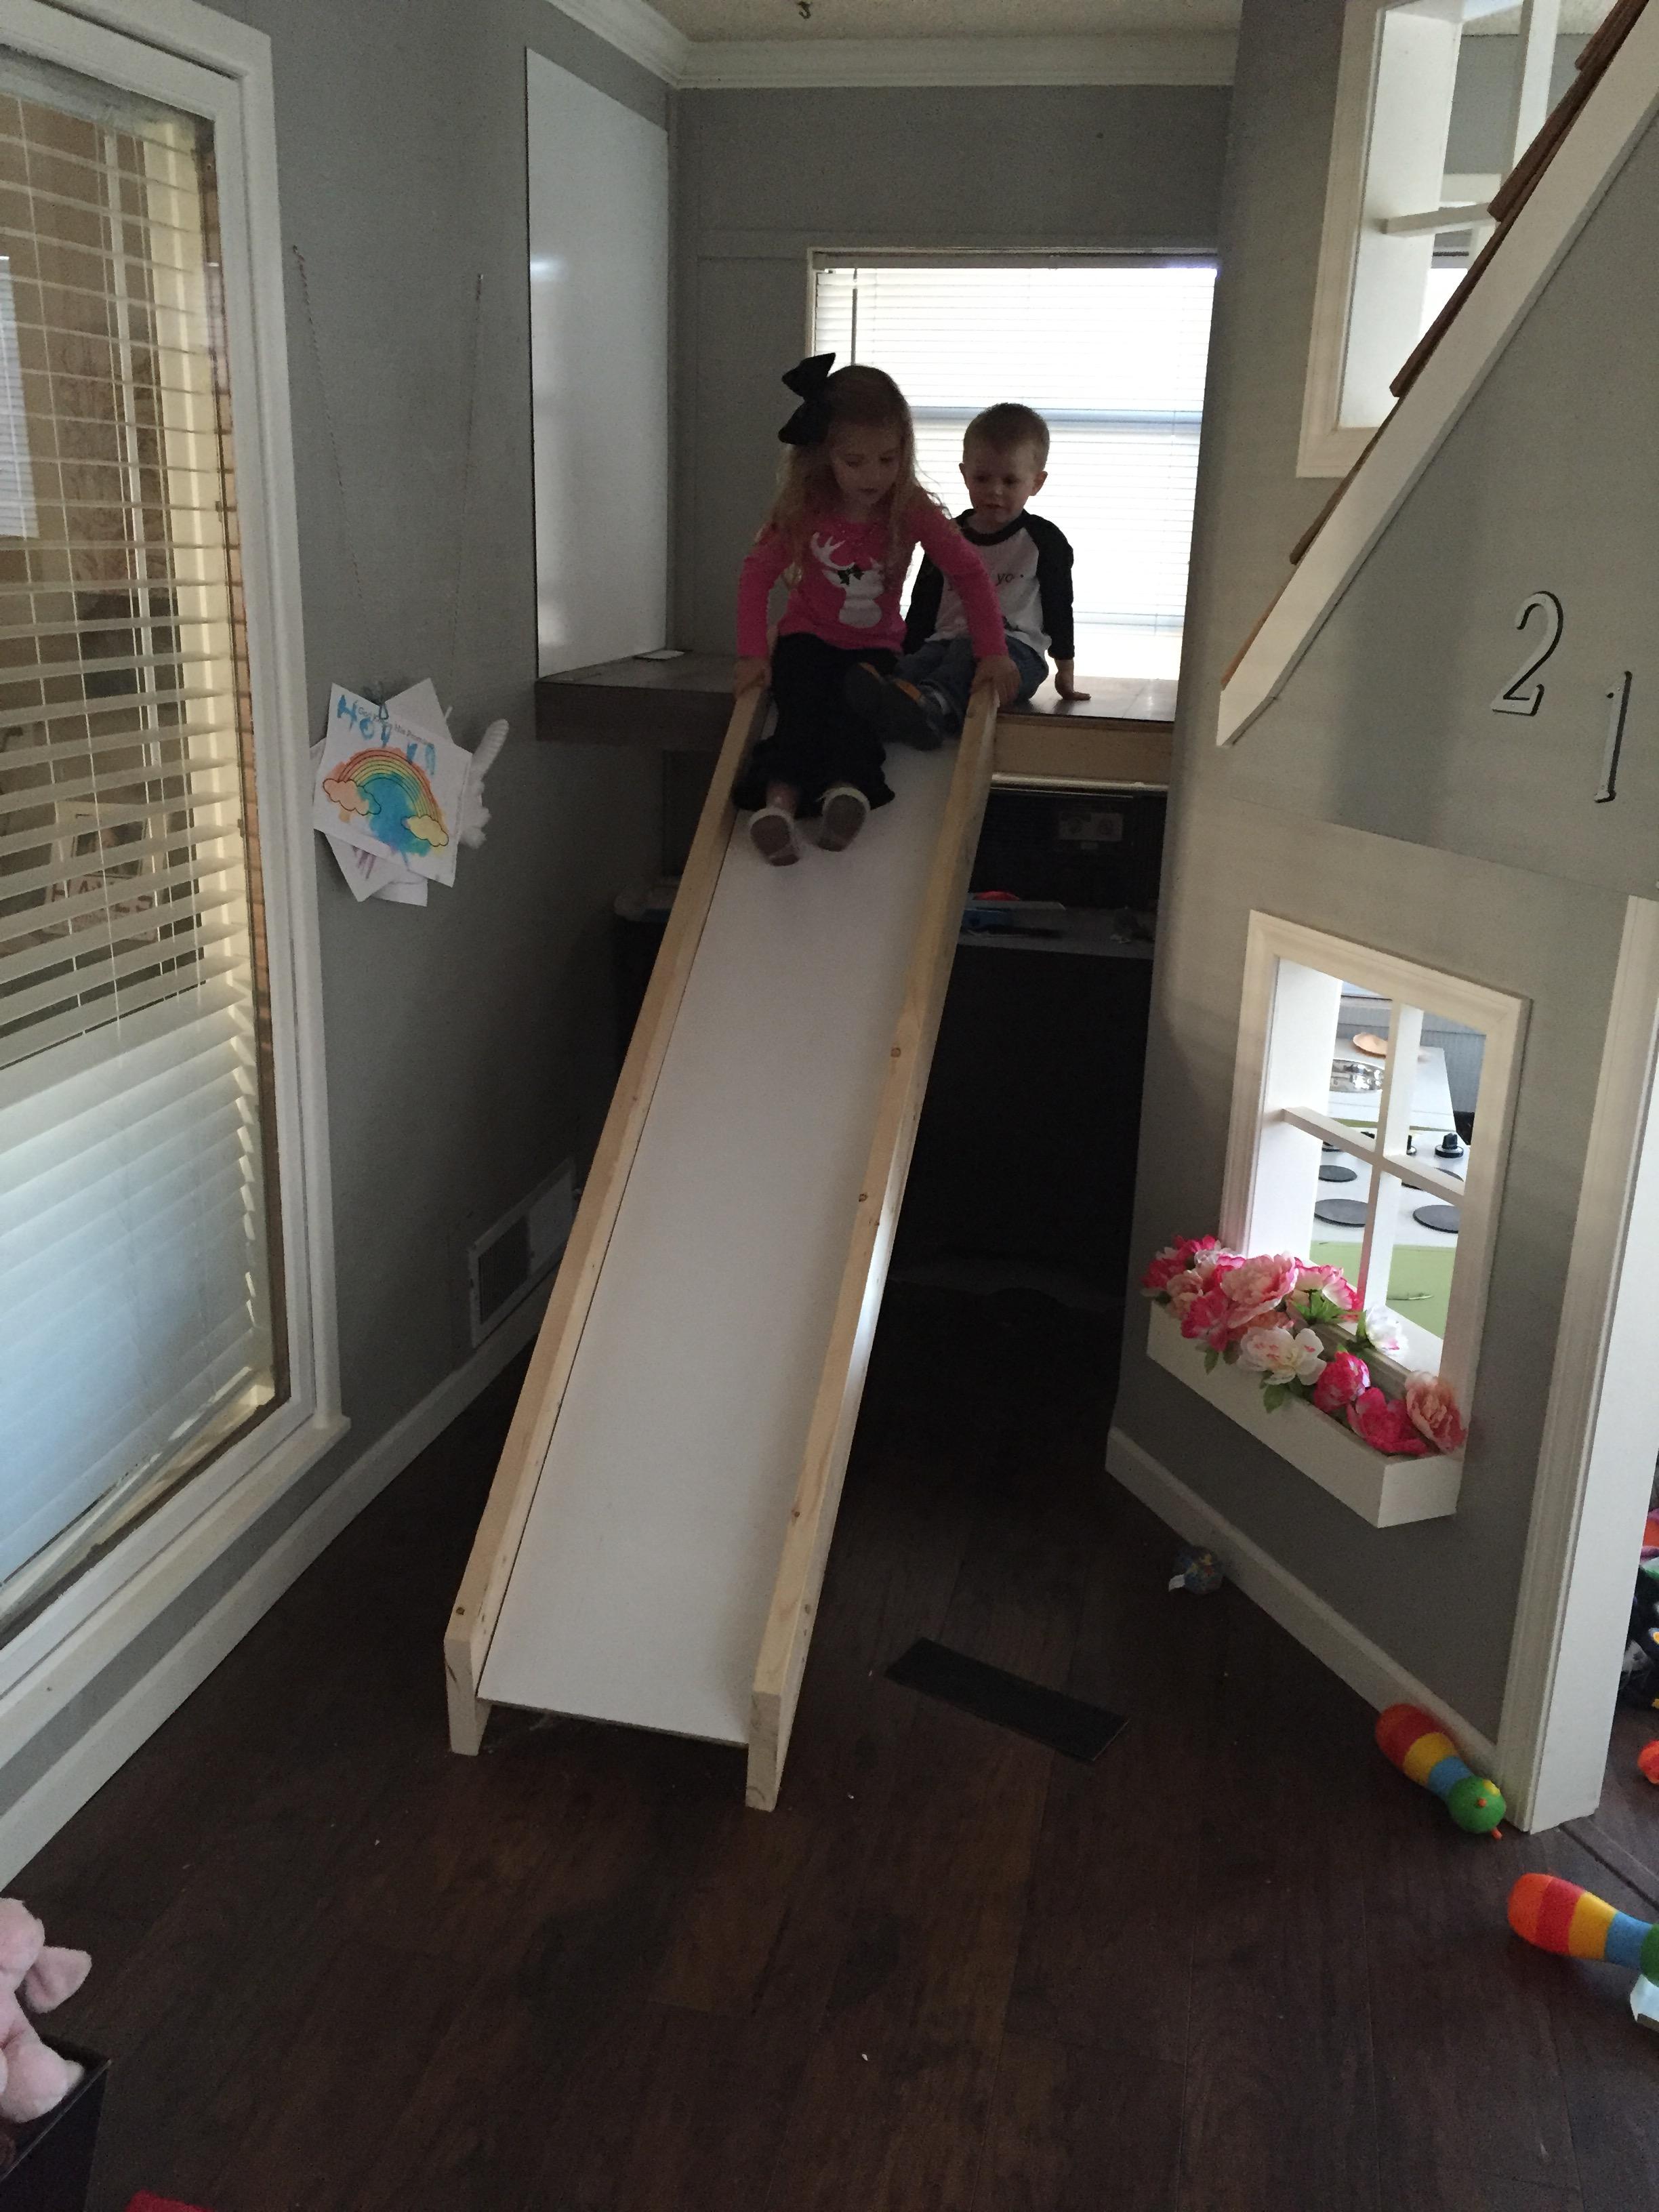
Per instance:
[[[847,1265],[841,1272],[830,1349],[818,1374],[801,1480],[761,1637],[761,1657],[750,1692],[748,1759],[748,1803],[761,1812],[772,1812],[783,1783],[783,1761],[790,1750],[794,1708],[801,1699],[818,1590],[830,1564],[841,1484],[869,1369],[869,1345],[876,1336],[880,1294],[887,1283],[887,1259],[916,1148],[916,1124],[927,1097],[927,1075],[933,1064],[945,989],[951,980],[956,940],[962,929],[962,902],[973,852],[980,843],[984,801],[991,792],[995,719],[995,697],[989,690],[978,690],[958,745],[945,821],[927,876],[922,920],[889,1046]]]

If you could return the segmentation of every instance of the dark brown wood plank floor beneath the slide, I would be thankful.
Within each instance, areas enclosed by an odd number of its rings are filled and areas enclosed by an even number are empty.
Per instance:
[[[1102,1486],[1099,1318],[889,1303],[781,1809],[498,1717],[440,1632],[465,1416],[27,1869],[115,2053],[95,2205],[1632,2212],[1659,2051],[1504,1929],[1371,1717]],[[883,1679],[938,1635],[1130,1714],[1077,1767]]]

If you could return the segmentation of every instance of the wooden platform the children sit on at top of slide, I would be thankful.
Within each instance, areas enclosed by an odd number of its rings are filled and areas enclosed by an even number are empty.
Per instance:
[[[1175,684],[1086,677],[1068,701],[1053,684],[998,717],[998,783],[1055,790],[1168,790]],[[535,734],[553,745],[644,745],[719,752],[732,712],[732,661],[599,661],[535,686]]]

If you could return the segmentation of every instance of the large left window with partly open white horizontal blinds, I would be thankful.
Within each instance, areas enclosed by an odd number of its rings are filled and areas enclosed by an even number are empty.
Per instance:
[[[285,1396],[212,131],[0,49],[0,1628]]]

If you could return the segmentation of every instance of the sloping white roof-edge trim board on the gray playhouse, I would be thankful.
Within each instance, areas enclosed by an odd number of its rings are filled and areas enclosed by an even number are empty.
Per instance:
[[[1237,743],[1285,688],[1655,115],[1659,115],[1659,9],[1648,9],[1626,33],[1577,122],[1504,232],[1480,283],[1469,292],[1462,312],[1376,434],[1365,467],[1332,509],[1221,686],[1219,745]]]

